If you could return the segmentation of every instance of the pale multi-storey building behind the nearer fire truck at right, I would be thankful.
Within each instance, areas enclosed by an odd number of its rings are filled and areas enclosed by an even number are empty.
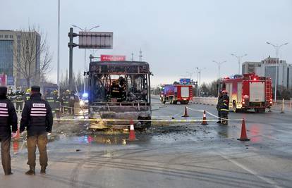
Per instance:
[[[276,73],[276,58],[270,56],[260,62],[244,62],[242,67],[242,73],[255,73],[260,76],[271,77],[272,85],[276,83],[279,89],[287,88],[292,89],[292,65],[286,63],[284,60],[278,58],[278,68]]]

